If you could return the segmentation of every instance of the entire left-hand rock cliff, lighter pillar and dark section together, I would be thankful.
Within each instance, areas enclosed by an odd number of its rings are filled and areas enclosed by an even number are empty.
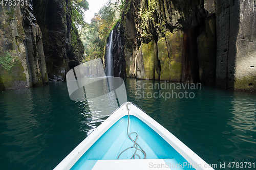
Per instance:
[[[64,0],[0,5],[0,90],[63,80],[80,63],[84,50],[70,11]]]

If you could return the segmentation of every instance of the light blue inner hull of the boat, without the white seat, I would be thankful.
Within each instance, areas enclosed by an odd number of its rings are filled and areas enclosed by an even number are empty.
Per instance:
[[[134,146],[134,142],[127,136],[128,115],[120,118],[108,131],[106,131],[92,146],[84,153],[71,169],[92,169],[97,160],[114,160],[125,149]],[[168,164],[183,164],[188,162],[158,133],[147,126],[136,116],[130,115],[129,134],[138,134],[137,143],[146,153],[146,159],[163,159]],[[133,140],[136,134],[131,134]],[[131,148],[124,151],[119,159],[131,159],[136,149]],[[143,159],[144,154],[137,151],[135,159]],[[175,169],[194,169],[192,166],[183,166]]]

